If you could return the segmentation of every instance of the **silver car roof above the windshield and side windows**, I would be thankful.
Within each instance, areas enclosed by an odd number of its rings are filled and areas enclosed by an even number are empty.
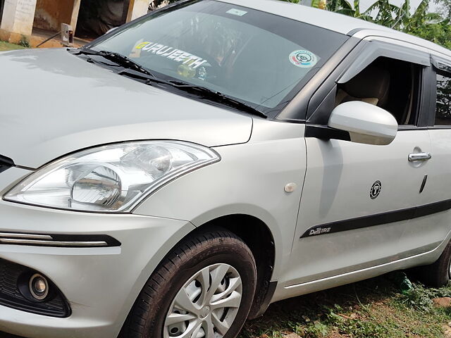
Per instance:
[[[237,6],[243,6],[253,8],[258,11],[264,11],[275,15],[283,16],[292,20],[297,20],[302,23],[308,23],[309,25],[315,25],[325,28],[326,30],[332,30],[344,35],[354,36],[357,35],[360,39],[364,39],[369,36],[388,37],[390,39],[397,39],[401,42],[408,42],[417,46],[431,49],[443,56],[451,58],[451,51],[445,49],[443,46],[434,44],[425,39],[414,37],[391,28],[376,25],[365,20],[352,18],[347,15],[333,13],[330,11],[324,11],[318,8],[312,8],[309,6],[302,6],[299,4],[292,4],[290,2],[279,0],[218,0],[226,2],[228,4],[235,4]]]

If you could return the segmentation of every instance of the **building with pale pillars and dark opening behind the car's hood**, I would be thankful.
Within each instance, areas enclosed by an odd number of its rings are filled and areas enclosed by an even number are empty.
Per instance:
[[[75,37],[80,31],[80,37],[95,38],[146,14],[148,7],[149,0],[0,0],[0,39],[49,37],[61,23],[72,26]]]

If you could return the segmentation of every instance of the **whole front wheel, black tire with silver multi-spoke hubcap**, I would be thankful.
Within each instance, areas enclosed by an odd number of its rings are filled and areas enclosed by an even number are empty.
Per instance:
[[[222,228],[199,231],[156,268],[121,336],[234,338],[249,314],[256,284],[254,256],[242,239]]]

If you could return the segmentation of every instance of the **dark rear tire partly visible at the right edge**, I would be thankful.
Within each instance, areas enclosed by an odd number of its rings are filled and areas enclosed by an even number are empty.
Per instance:
[[[445,287],[451,277],[451,242],[435,263],[422,266],[418,270],[420,279],[429,287]]]

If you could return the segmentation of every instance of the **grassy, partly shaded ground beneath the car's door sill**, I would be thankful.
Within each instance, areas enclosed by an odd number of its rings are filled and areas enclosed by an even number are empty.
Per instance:
[[[432,302],[451,296],[451,287],[427,289],[414,282],[402,294],[395,279],[390,274],[274,303],[262,318],[249,320],[239,338],[291,332],[303,338],[451,337],[451,308]]]

